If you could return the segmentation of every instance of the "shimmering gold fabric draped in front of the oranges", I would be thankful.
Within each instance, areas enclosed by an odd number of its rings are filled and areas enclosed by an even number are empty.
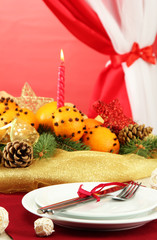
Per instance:
[[[134,154],[95,151],[58,151],[48,159],[35,160],[28,168],[0,167],[0,192],[28,192],[53,184],[72,182],[125,182],[151,176],[157,159]]]

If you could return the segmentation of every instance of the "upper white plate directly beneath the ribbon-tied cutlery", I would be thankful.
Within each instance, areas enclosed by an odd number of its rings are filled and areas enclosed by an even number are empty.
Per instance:
[[[44,187],[38,190],[35,202],[44,207],[73,197],[78,197],[77,191],[81,183],[68,183]],[[83,183],[83,188],[91,190],[99,183]],[[118,192],[114,193],[115,195]],[[127,201],[115,201],[111,196],[75,205],[64,210],[56,211],[55,214],[63,217],[86,218],[86,219],[113,219],[141,215],[157,206],[157,191],[151,188],[140,187],[136,195]]]

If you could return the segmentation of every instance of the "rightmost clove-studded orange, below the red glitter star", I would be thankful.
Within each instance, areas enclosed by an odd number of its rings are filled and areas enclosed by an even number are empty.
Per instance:
[[[83,135],[83,142],[93,151],[118,153],[120,144],[117,136],[110,129],[102,126],[90,128]]]

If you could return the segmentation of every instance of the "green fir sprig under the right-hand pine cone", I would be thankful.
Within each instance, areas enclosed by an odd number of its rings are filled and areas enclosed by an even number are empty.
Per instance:
[[[134,153],[145,158],[152,158],[157,153],[157,136],[148,137],[143,140],[131,140],[129,143],[121,145],[119,153]]]

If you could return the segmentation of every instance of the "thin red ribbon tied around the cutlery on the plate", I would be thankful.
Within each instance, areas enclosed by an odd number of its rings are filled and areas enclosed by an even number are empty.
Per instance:
[[[80,185],[77,194],[79,195],[80,198],[85,198],[89,196],[93,196],[94,198],[97,199],[97,201],[100,201],[99,193],[104,187],[111,186],[111,185],[118,185],[124,187],[126,184],[125,183],[120,183],[120,182],[111,182],[111,183],[100,183],[96,187],[94,187],[90,192],[83,189],[82,186],[83,184]],[[104,190],[105,193],[105,190]]]

